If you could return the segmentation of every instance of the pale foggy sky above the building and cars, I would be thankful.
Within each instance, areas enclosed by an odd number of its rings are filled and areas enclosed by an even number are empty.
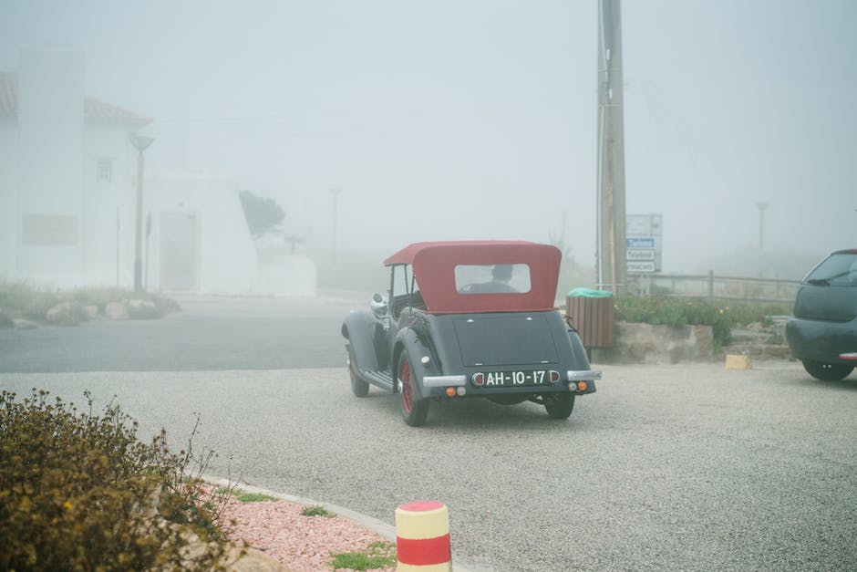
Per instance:
[[[79,49],[153,119],[147,167],[274,198],[286,233],[391,253],[563,236],[594,265],[595,0],[0,0],[0,71]],[[628,213],[663,270],[857,246],[857,3],[622,5]],[[785,263],[788,265],[789,263]]]

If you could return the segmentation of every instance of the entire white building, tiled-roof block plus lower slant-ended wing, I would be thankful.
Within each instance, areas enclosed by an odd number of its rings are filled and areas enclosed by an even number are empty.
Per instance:
[[[27,49],[18,73],[0,73],[0,279],[134,286],[138,151],[129,135],[150,122],[86,97],[76,51]],[[315,296],[308,260],[290,262],[297,273],[259,264],[237,182],[159,174],[143,188],[147,289]]]

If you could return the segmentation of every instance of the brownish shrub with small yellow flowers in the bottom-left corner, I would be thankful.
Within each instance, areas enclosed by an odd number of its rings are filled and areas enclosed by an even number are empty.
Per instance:
[[[222,543],[188,551],[188,531],[217,537],[199,481],[183,476],[191,452],[170,453],[165,432],[139,442],[118,406],[91,409],[0,393],[0,569],[221,567]]]

